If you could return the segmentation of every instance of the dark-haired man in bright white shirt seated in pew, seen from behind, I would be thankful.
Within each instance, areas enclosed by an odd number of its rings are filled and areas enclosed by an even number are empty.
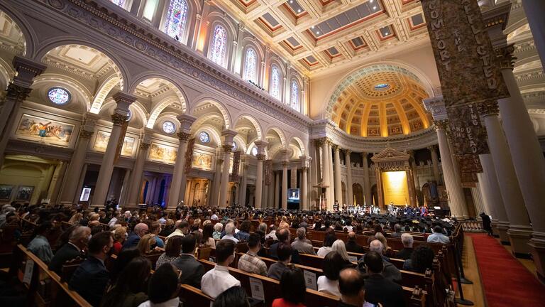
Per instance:
[[[229,225],[229,224],[228,224]],[[202,276],[201,289],[216,298],[223,291],[241,286],[241,282],[229,274],[229,264],[235,259],[235,243],[229,239],[222,239],[216,244],[216,266]]]

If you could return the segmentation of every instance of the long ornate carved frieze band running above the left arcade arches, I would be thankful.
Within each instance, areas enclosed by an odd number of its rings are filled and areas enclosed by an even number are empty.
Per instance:
[[[119,12],[111,11],[111,8],[94,0],[34,1],[74,18],[95,31],[180,70],[185,75],[214,87],[229,97],[238,99],[289,126],[301,129],[303,132],[308,131],[308,125],[312,120],[304,114],[292,111],[287,104],[275,102],[263,92],[256,92],[253,86],[243,82],[240,77],[211,63],[203,55],[185,45],[172,44],[171,39],[165,38],[165,33],[141,24],[132,16],[121,16]]]

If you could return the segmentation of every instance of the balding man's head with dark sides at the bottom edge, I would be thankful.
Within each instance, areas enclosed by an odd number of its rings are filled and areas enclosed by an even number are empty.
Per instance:
[[[338,274],[338,291],[341,292],[339,307],[360,307],[365,303],[365,280],[357,269],[343,269]]]

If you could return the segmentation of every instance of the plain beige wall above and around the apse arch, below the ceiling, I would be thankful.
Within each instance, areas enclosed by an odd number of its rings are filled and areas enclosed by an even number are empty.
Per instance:
[[[365,66],[375,64],[400,64],[400,66],[407,68],[414,72],[415,75],[422,77],[424,85],[427,88],[431,88],[436,91],[436,88],[440,86],[439,75],[437,74],[437,68],[434,60],[434,53],[431,50],[431,45],[426,42],[418,48],[414,48],[409,51],[400,50],[392,55],[389,55],[380,60],[373,61],[358,61],[351,67],[335,70],[331,74],[312,77],[310,82],[310,110],[309,117],[312,119],[323,118],[324,110],[327,107],[327,102],[331,94],[334,92],[336,86],[341,80],[351,75],[352,72],[363,68]]]

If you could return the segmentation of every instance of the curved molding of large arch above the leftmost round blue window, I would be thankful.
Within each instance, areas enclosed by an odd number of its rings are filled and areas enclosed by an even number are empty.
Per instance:
[[[118,55],[107,50],[101,45],[92,43],[91,41],[83,41],[82,38],[75,37],[63,37],[62,39],[51,38],[40,45],[40,47],[35,51],[35,58],[43,60],[45,55],[47,55],[51,50],[55,48],[62,47],[64,45],[81,45],[87,48],[93,48],[100,53],[104,54],[108,58],[109,63],[111,63],[114,68],[115,75],[119,77],[119,87],[123,90],[127,84],[130,84],[131,79],[129,78],[128,69],[123,65],[123,61],[119,58]]]

